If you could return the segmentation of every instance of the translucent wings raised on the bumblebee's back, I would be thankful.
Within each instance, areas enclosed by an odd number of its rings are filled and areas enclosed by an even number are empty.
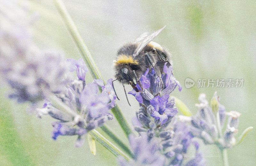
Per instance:
[[[141,41],[139,46],[135,49],[135,52],[133,53],[133,57],[135,57],[136,55],[138,55],[140,53],[140,51],[150,42],[152,41],[163,29],[165,28],[165,26],[155,32],[153,32],[152,34],[146,36],[147,33],[143,33],[141,34],[135,41]],[[143,39],[144,38],[144,39]]]

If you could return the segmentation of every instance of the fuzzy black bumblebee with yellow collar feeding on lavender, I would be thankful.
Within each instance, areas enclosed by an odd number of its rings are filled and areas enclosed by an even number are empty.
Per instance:
[[[157,76],[161,80],[163,88],[164,83],[161,79],[161,74],[163,74],[165,62],[167,62],[168,67],[171,65],[171,54],[168,52],[168,49],[152,40],[164,28],[165,26],[149,35],[147,33],[143,33],[135,39],[135,41],[128,42],[117,50],[117,56],[114,60],[116,79],[112,81],[113,88],[113,82],[118,80],[122,83],[123,87],[124,84],[130,84],[137,92],[139,92],[139,90],[136,87],[136,84],[139,84],[142,91],[143,88],[140,83],[140,77],[148,68],[155,70]],[[136,80],[136,84],[134,83],[134,80]],[[125,87],[124,92],[127,102],[129,103]],[[119,100],[118,97],[117,99]],[[131,106],[130,103],[129,105]]]

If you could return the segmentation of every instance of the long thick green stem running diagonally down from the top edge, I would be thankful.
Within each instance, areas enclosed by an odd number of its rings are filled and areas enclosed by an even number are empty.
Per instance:
[[[63,2],[61,0],[55,0],[54,2],[55,2],[55,5],[56,5],[62,19],[64,20],[66,26],[68,27],[68,30],[69,30],[71,36],[73,37],[73,39],[76,43],[76,46],[79,49],[80,54],[81,54],[82,58],[84,59],[84,62],[86,63],[92,77],[94,79],[102,79],[100,71],[97,68],[94,60],[92,59],[92,55],[90,54],[87,46],[85,45],[84,40],[82,39],[81,35],[79,34],[79,32],[76,28],[76,25],[73,22],[73,20],[71,19],[65,5],[63,4]],[[101,91],[101,89],[100,89],[100,91]],[[121,110],[116,105],[116,107],[111,109],[111,111],[114,114],[114,116],[116,117],[117,122],[120,124],[121,128],[123,129],[125,135],[128,137],[132,133],[132,130],[129,127],[127,121],[124,119],[124,116],[123,116]]]

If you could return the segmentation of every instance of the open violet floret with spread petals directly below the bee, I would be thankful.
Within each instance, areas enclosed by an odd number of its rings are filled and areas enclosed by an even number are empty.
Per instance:
[[[150,116],[155,117],[156,120],[160,119],[161,125],[166,122],[168,116],[174,116],[178,112],[177,109],[166,107],[168,99],[169,95],[166,94],[162,97],[156,96],[154,99],[150,100],[150,105],[152,105],[155,109]]]

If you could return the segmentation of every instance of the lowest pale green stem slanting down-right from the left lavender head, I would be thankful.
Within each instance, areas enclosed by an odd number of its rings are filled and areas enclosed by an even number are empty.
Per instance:
[[[109,140],[103,137],[99,132],[95,129],[89,132],[89,134],[98,141],[103,147],[108,149],[113,155],[122,155],[126,160],[130,160],[130,157],[126,156],[124,152],[119,150],[114,144],[112,144]]]

